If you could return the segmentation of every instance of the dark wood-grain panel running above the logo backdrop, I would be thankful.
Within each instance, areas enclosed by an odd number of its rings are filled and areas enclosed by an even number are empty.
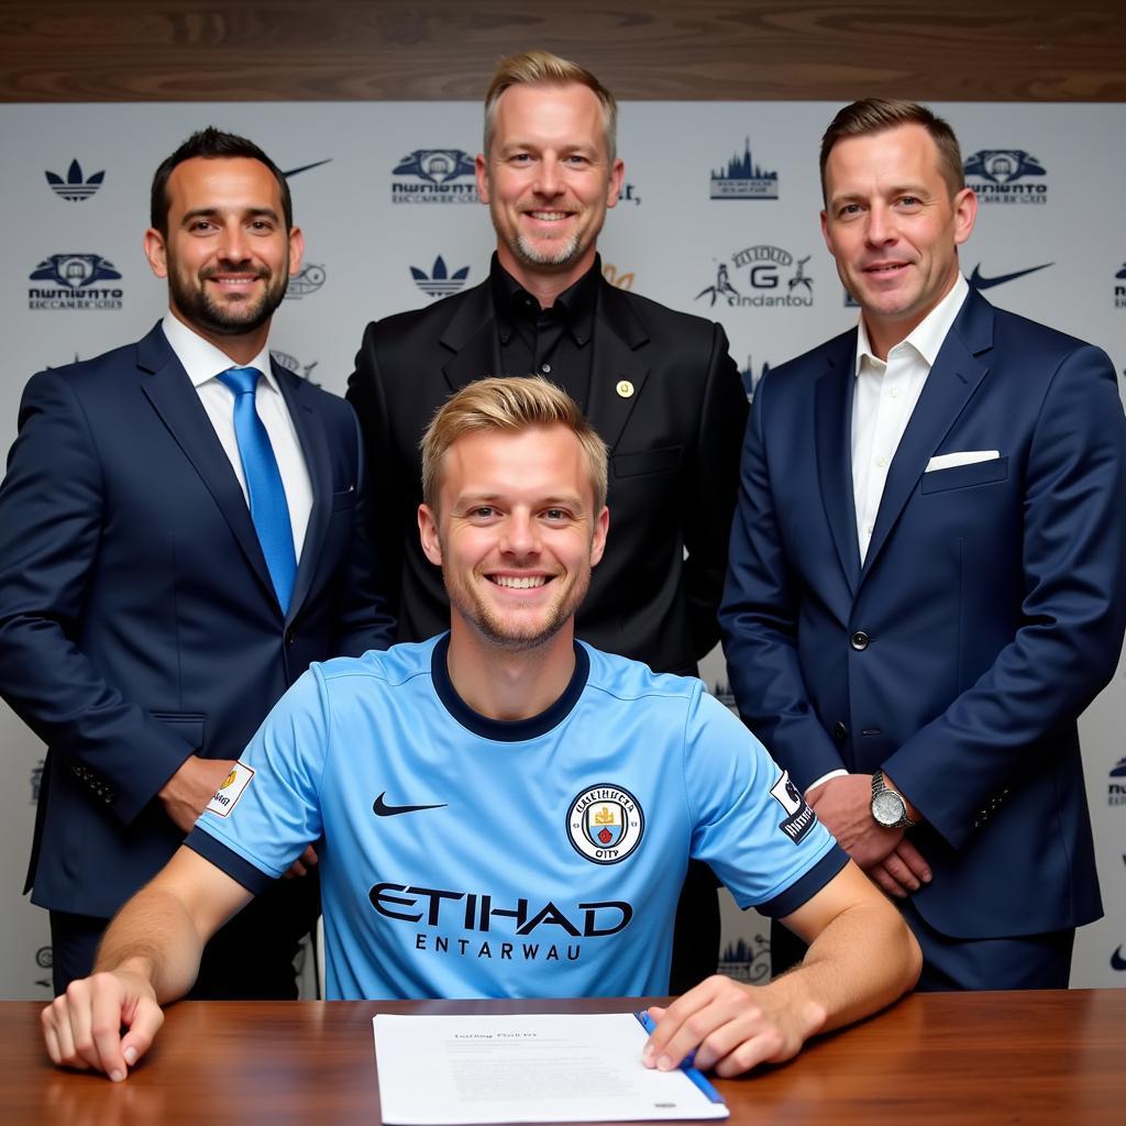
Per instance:
[[[477,99],[545,46],[624,99],[1126,99],[1120,0],[0,0],[0,100]]]

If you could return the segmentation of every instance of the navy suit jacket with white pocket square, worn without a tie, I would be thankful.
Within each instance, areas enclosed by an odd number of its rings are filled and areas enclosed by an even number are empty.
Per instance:
[[[801,787],[883,768],[926,817],[914,894],[956,938],[1101,913],[1076,716],[1126,625],[1126,421],[1090,345],[971,293],[888,471],[864,565],[856,331],[769,373],[721,620],[747,723]],[[992,461],[924,472],[938,454]]]

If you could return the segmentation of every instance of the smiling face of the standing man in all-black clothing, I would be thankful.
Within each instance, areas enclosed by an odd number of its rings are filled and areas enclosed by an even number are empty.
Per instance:
[[[578,82],[509,87],[476,167],[504,269],[529,289],[536,276],[556,278],[557,292],[577,282],[595,260],[624,173],[609,160],[595,92]]]

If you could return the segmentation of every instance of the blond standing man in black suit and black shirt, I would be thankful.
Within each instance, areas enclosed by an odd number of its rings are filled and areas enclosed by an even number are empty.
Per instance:
[[[616,114],[614,96],[574,63],[545,52],[503,60],[476,160],[497,230],[489,279],[364,336],[348,399],[365,432],[373,536],[401,641],[449,620],[441,574],[419,546],[419,438],[466,383],[528,373],[568,391],[610,448],[614,530],[579,636],[678,673],[695,673],[718,640],[747,399],[720,325],[602,278],[596,240],[624,176]],[[718,947],[711,875],[689,886],[677,992],[715,971]]]

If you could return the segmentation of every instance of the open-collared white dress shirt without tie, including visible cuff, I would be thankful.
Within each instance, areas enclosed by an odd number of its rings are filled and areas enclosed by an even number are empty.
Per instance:
[[[872,529],[884,495],[887,470],[922,394],[927,376],[969,293],[959,274],[950,292],[894,348],[887,359],[872,351],[864,316],[856,339],[856,388],[852,397],[852,501],[860,563],[868,554]],[[830,770],[810,783],[806,793],[847,770]]]

